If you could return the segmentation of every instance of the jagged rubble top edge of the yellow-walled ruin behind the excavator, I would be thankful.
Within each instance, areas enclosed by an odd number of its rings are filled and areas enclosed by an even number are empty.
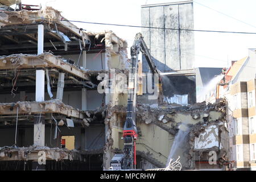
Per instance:
[[[176,105],[175,105],[176,106]],[[220,117],[212,117],[212,112],[220,113]],[[126,107],[115,105],[110,107],[109,113],[126,114]],[[191,115],[195,123],[210,121],[226,121],[226,100],[218,100],[215,104],[200,103],[195,105],[151,108],[148,105],[137,105],[137,122],[144,122],[146,125],[154,123],[168,133],[175,135],[179,130],[181,121],[175,121],[176,114]],[[107,118],[106,122],[109,122]]]

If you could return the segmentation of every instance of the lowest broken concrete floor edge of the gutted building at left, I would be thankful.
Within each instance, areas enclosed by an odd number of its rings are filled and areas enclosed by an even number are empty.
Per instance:
[[[96,150],[68,150],[66,148],[49,148],[49,147],[0,147],[0,161],[9,160],[38,160],[44,155],[46,160],[80,160],[82,155],[103,154],[103,148]]]

